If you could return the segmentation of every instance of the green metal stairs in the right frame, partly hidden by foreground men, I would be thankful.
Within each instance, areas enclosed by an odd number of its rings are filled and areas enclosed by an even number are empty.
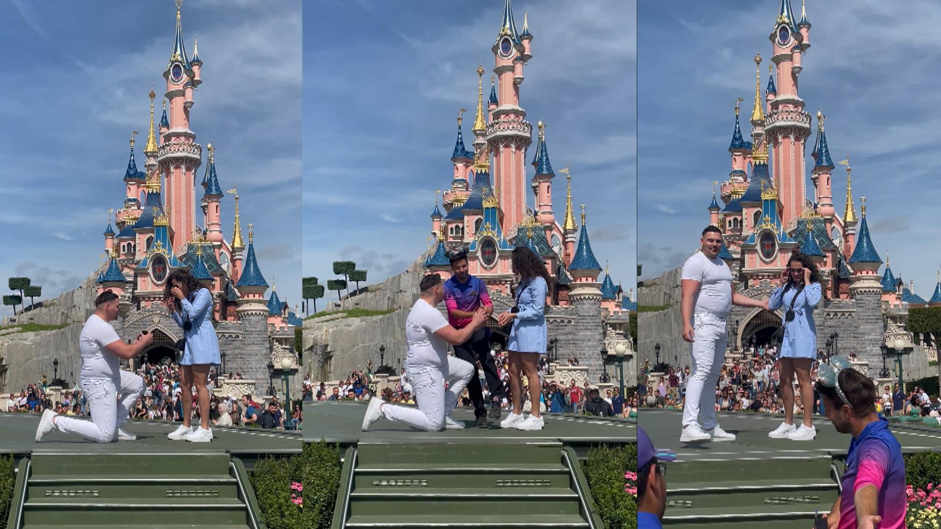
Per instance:
[[[812,527],[830,512],[838,486],[829,456],[678,459],[667,467],[670,529]]]

